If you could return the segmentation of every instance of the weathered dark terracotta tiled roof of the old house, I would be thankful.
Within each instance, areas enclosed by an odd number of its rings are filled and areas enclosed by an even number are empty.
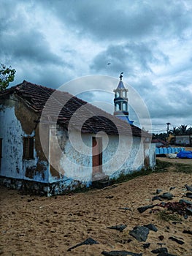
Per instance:
[[[68,129],[70,121],[72,127],[81,130],[81,132],[96,133],[103,131],[109,135],[118,135],[120,132],[137,137],[140,137],[141,134],[145,137],[148,136],[145,132],[143,134],[139,127],[121,121],[104,110],[96,108],[64,91],[56,91],[23,80],[23,83],[18,84],[18,86],[1,91],[0,98],[7,94],[15,94],[22,98],[26,105],[39,116],[44,111],[49,121],[56,116],[58,124],[66,127],[66,129]],[[51,95],[52,97],[50,97]],[[50,103],[47,105],[48,99]]]

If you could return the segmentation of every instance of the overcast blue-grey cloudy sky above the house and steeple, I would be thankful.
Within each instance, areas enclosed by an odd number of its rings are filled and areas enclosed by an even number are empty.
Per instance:
[[[192,126],[191,0],[1,0],[0,10],[0,61],[17,71],[11,86],[25,79],[57,89],[99,75],[64,88],[110,102],[112,113],[123,72],[153,132]]]

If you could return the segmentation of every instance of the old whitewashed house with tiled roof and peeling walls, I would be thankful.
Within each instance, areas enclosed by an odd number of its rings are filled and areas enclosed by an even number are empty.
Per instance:
[[[0,110],[7,187],[58,195],[155,165],[146,132],[64,91],[24,80],[1,91]]]

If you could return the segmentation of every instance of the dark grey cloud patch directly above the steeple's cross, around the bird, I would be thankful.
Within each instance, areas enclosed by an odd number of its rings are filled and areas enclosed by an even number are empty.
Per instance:
[[[121,45],[110,45],[93,59],[91,69],[96,72],[118,70],[126,72],[128,75],[138,75],[138,72],[153,72],[150,64],[158,64],[162,61],[166,63],[169,59],[160,51],[160,55],[164,57],[163,60],[162,58],[158,59],[157,54],[154,56],[154,44],[154,42],[128,42]],[[109,67],[107,67],[107,63],[110,63]]]

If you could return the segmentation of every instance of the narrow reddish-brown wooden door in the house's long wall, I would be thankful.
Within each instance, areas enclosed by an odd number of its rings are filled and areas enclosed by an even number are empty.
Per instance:
[[[102,173],[102,139],[92,138],[93,174]]]

